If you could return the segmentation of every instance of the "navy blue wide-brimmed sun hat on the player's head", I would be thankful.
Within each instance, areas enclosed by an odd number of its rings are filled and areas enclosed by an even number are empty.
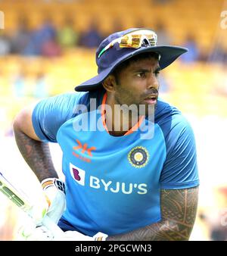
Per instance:
[[[75,90],[77,92],[88,92],[98,89],[101,86],[101,83],[119,64],[123,63],[123,61],[126,61],[129,58],[134,57],[135,55],[139,55],[144,52],[157,52],[157,54],[160,55],[160,68],[163,69],[169,66],[169,64],[173,63],[173,61],[175,61],[176,58],[179,58],[180,55],[188,52],[187,48],[179,46],[157,45],[157,35],[152,30],[150,31],[151,33],[154,33],[154,44],[151,44],[148,40],[145,40],[145,43],[141,44],[141,47],[139,48],[120,48],[120,43],[114,43],[111,45],[111,47],[107,48],[111,42],[114,42],[113,40],[116,41],[122,36],[129,33],[135,33],[138,30],[150,29],[132,28],[113,33],[104,39],[96,51],[98,75],[92,77],[84,83],[81,83],[79,86],[76,86]],[[105,50],[105,48],[107,48],[107,50]]]

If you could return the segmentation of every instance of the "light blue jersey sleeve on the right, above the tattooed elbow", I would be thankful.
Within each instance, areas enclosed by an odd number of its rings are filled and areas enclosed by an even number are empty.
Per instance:
[[[186,189],[199,185],[194,133],[183,117],[172,120],[166,136],[166,161],[160,175],[161,189]]]

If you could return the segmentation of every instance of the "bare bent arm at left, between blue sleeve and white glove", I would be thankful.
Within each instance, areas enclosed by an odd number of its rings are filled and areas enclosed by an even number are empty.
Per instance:
[[[51,160],[48,143],[41,142],[33,129],[33,107],[25,108],[14,120],[14,136],[26,163],[41,182],[49,177],[58,178]]]

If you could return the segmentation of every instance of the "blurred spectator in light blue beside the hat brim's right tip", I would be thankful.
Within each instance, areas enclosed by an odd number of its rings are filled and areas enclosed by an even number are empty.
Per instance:
[[[183,45],[185,48],[188,48],[188,52],[185,55],[182,55],[180,59],[185,63],[192,63],[198,59],[198,48],[197,43],[194,41],[194,36],[188,35],[186,42]]]

